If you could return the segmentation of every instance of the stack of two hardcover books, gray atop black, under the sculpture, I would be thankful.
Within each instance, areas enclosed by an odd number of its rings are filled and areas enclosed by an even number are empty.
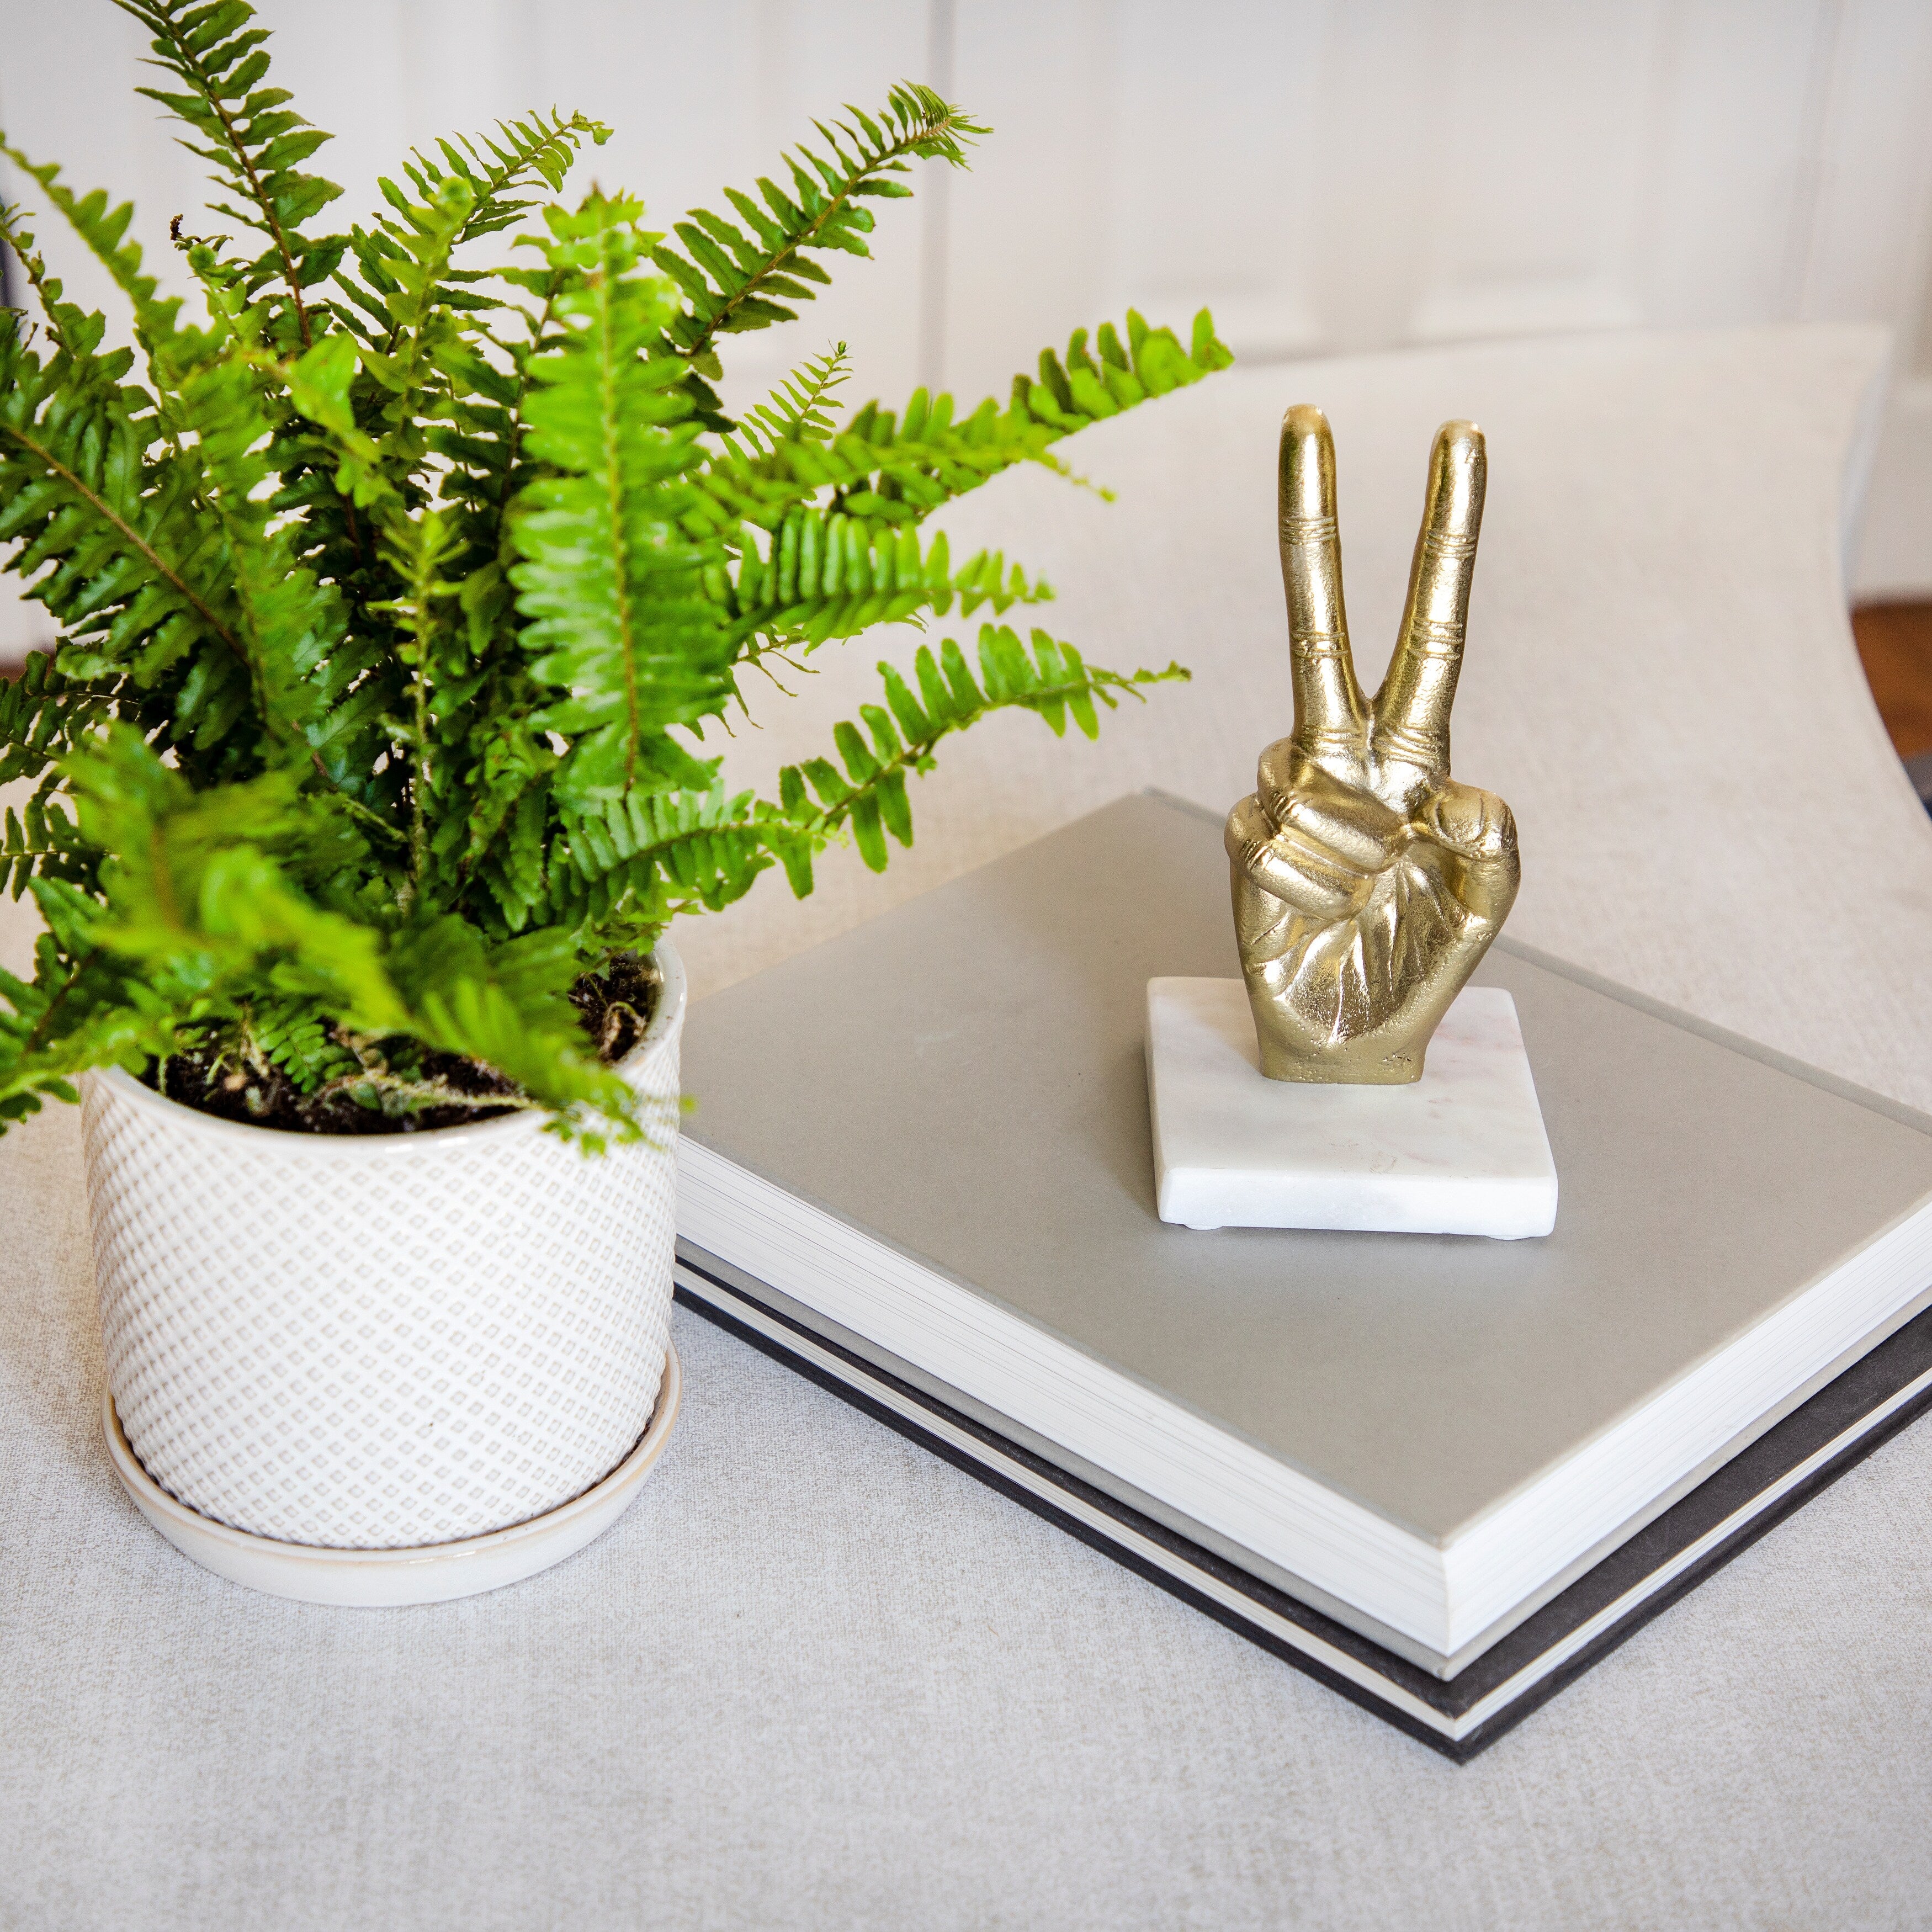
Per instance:
[[[1167,1225],[1236,974],[1150,794],[697,1003],[678,1289],[1466,1758],[1932,1399],[1932,1121],[1505,935],[1551,1235]]]

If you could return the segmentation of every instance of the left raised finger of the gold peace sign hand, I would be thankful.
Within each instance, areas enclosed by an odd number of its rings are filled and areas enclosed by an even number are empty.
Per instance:
[[[1335,535],[1335,439],[1327,417],[1298,402],[1281,419],[1281,582],[1289,593],[1294,744],[1318,755],[1360,755],[1368,705],[1349,657]]]

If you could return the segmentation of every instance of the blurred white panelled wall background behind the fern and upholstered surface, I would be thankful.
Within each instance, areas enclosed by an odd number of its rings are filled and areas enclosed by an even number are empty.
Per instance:
[[[877,261],[736,338],[732,400],[831,340],[846,396],[1003,394],[1068,319],[1209,305],[1244,361],[1549,330],[1862,321],[1893,338],[1847,599],[1901,755],[1932,753],[1932,6],[1926,0],[261,0],[348,191],[531,106],[668,224],[838,102],[925,79],[972,174],[873,203]],[[197,162],[108,0],[0,0],[0,126],[133,195],[164,278]],[[33,205],[0,174],[0,195]],[[48,222],[70,294],[104,278]],[[17,270],[14,284],[17,290]],[[0,665],[46,641],[0,599]],[[1932,790],[1932,773],[1922,790]]]

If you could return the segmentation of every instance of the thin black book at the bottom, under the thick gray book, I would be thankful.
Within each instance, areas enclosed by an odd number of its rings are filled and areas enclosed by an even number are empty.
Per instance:
[[[676,1279],[694,1312],[1457,1764],[1932,1406],[1926,1310],[1443,1681],[815,1333],[796,1304],[690,1242]]]

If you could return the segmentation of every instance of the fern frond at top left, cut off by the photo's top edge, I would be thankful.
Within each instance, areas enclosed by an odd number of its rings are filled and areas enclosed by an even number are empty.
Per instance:
[[[288,91],[263,87],[269,75],[269,29],[255,27],[247,0],[114,0],[155,37],[155,66],[174,73],[187,93],[141,87],[185,122],[201,141],[184,139],[224,184],[232,201],[211,201],[216,214],[261,234],[269,247],[249,265],[243,288],[249,299],[280,280],[288,290],[294,334],[303,348],[311,325],[303,290],[325,280],[342,255],[342,240],[311,242],[301,234],[342,189],[305,162],[332,139],[311,128],[288,106]],[[238,205],[240,203],[240,205]],[[280,330],[270,330],[280,334]]]

